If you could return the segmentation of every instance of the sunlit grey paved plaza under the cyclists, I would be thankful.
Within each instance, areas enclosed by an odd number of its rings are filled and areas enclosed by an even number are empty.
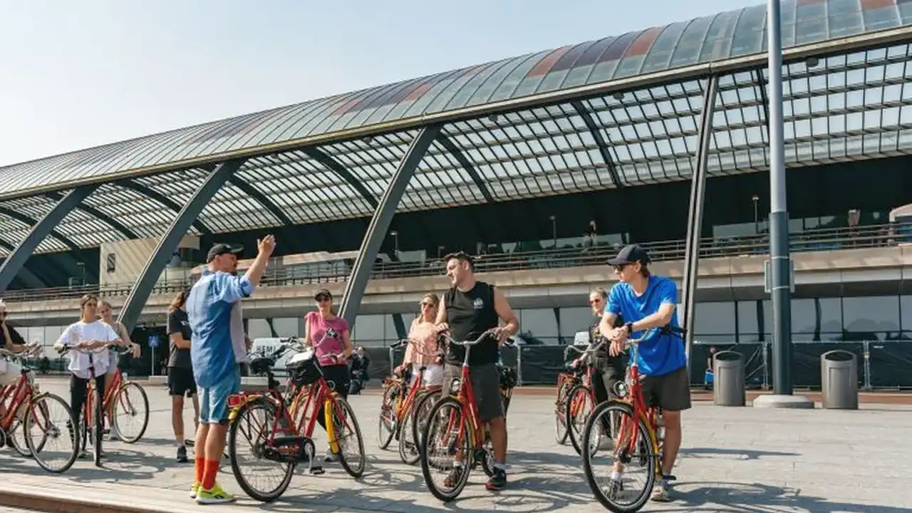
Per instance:
[[[46,389],[68,396],[67,384]],[[192,464],[174,462],[170,399],[164,387],[147,386],[150,426],[136,445],[109,443],[106,467],[78,460],[67,474],[48,475],[32,461],[0,453],[4,487],[146,505],[172,513],[198,510],[188,497]],[[354,396],[368,451],[368,469],[357,481],[337,464],[323,476],[295,476],[279,501],[260,505],[241,497],[230,466],[222,482],[238,492],[236,505],[215,511],[587,511],[602,510],[586,485],[580,458],[556,445],[553,400],[517,395],[509,418],[509,487],[485,490],[479,469],[460,499],[444,505],[424,486],[420,466],[405,466],[393,451],[377,447],[379,395]],[[685,438],[676,475],[678,497],[645,511],[908,511],[904,469],[912,459],[912,407],[863,404],[861,411],[771,411],[695,403],[684,416]],[[189,421],[190,414],[185,418]],[[192,423],[188,423],[192,426]],[[325,445],[318,445],[325,447]],[[393,445],[392,448],[395,448]],[[47,492],[53,490],[53,492]]]

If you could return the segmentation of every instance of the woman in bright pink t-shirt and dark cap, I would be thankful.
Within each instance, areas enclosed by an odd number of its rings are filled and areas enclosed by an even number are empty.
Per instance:
[[[307,312],[304,316],[304,343],[312,346],[316,361],[320,364],[323,377],[327,382],[336,385],[336,392],[348,397],[348,386],[351,372],[348,370],[348,357],[351,356],[351,337],[348,334],[348,323],[333,311],[333,295],[326,288],[316,291],[316,311]],[[326,429],[323,419],[323,408],[316,414],[316,422]],[[324,461],[335,461],[331,449],[326,449]]]

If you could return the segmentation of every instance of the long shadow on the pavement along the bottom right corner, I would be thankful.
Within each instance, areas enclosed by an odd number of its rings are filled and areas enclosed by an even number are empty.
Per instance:
[[[769,511],[865,511],[900,513],[908,508],[866,506],[850,502],[829,501],[824,497],[800,495],[801,490],[753,483],[682,483],[674,487],[675,501],[663,511],[721,511],[768,513]]]

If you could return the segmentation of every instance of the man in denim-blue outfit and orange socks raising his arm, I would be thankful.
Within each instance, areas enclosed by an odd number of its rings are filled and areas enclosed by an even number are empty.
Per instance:
[[[228,431],[228,397],[241,390],[241,372],[232,343],[234,303],[249,297],[260,283],[275,249],[275,237],[257,241],[258,253],[243,277],[235,276],[237,256],[244,248],[216,244],[206,257],[206,270],[187,297],[192,339],[193,379],[200,398],[196,431],[196,474],[191,497],[200,504],[231,502],[234,496],[215,482]]]

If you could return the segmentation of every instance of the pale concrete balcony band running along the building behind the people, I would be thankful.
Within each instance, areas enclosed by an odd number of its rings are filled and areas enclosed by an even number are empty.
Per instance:
[[[766,298],[763,292],[764,256],[703,258],[700,261],[697,300]],[[796,296],[826,297],[873,294],[876,287],[899,292],[905,282],[912,284],[912,246],[820,251],[793,255]],[[657,262],[653,273],[678,281],[683,262]],[[616,281],[607,266],[562,267],[483,273],[479,278],[503,288],[514,308],[580,306],[592,288],[610,287]],[[449,287],[442,276],[374,279],[360,313],[405,313],[416,309],[422,294],[441,293]],[[296,317],[314,307],[318,288],[328,288],[341,297],[345,283],[310,286],[264,287],[244,300],[248,318]],[[882,293],[882,292],[881,292]],[[159,322],[173,294],[150,297],[140,322]],[[125,296],[109,298],[115,309]],[[12,319],[22,325],[50,325],[77,318],[77,299],[7,303]]]

